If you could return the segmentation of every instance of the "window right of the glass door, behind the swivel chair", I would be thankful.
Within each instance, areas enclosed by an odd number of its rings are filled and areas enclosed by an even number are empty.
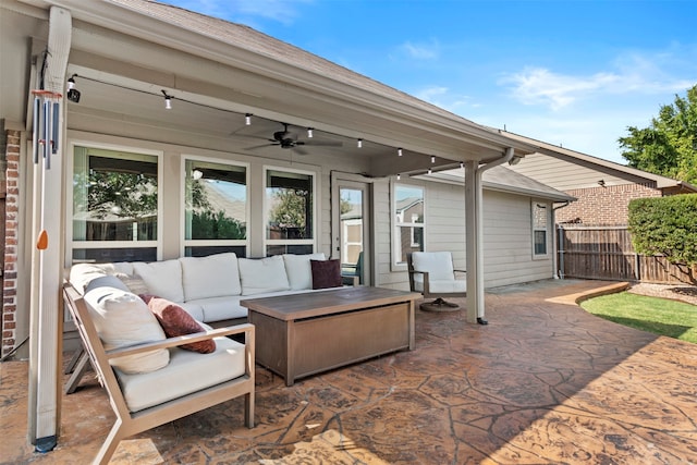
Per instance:
[[[424,188],[395,184],[393,198],[393,261],[403,265],[406,254],[424,250]]]

